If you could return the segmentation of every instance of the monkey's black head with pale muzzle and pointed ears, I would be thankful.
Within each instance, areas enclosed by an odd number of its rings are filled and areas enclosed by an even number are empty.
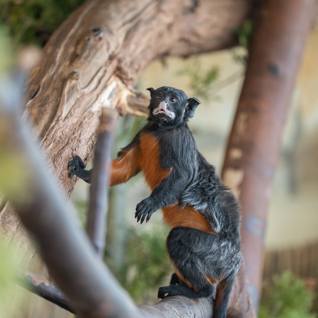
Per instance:
[[[174,87],[162,86],[150,91],[149,119],[159,125],[179,125],[194,116],[199,104],[196,98],[188,98],[181,90]]]

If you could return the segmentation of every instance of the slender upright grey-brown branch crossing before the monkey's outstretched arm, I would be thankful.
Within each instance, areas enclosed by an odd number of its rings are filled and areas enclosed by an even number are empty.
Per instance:
[[[100,258],[103,258],[108,210],[108,185],[111,149],[118,113],[102,108],[98,137],[94,152],[92,185],[90,187],[87,233]]]

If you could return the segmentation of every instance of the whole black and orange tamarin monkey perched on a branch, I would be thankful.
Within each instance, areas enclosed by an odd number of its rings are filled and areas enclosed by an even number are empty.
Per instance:
[[[158,298],[210,297],[216,288],[213,317],[225,318],[241,263],[237,200],[198,152],[188,127],[201,103],[173,87],[148,90],[148,122],[112,162],[110,186],[142,171],[152,192],[137,204],[137,222],[148,222],[162,209],[172,228],[166,249],[176,273],[169,286],[159,288]],[[79,156],[68,164],[71,177],[90,183],[90,171],[84,168]]]

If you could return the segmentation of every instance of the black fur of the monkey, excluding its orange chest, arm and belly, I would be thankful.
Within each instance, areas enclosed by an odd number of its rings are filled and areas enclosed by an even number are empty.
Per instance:
[[[210,297],[215,292],[215,284],[212,283],[215,280],[218,287],[214,318],[225,318],[241,262],[237,200],[220,181],[214,167],[198,152],[187,125],[200,102],[195,98],[188,99],[183,91],[172,87],[148,90],[151,95],[148,123],[118,156],[138,147],[140,135],[148,132],[157,137],[161,167],[172,168],[172,171],[148,198],[137,204],[137,222],[140,220],[142,223],[145,218],[146,222],[149,221],[151,215],[164,206],[188,204],[199,211],[215,231],[207,233],[182,226],[170,231],[167,250],[174,266],[187,282],[173,274],[170,285],[159,288],[158,297],[164,298],[165,294]],[[89,180],[87,173],[82,171],[82,162],[75,157],[73,159],[68,167],[71,170],[75,168],[72,175],[81,177],[84,174]]]

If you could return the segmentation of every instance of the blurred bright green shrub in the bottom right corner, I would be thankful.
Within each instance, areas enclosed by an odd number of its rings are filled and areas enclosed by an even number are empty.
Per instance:
[[[261,300],[259,318],[315,318],[310,314],[315,295],[305,289],[305,282],[286,271],[273,276],[273,287]]]

